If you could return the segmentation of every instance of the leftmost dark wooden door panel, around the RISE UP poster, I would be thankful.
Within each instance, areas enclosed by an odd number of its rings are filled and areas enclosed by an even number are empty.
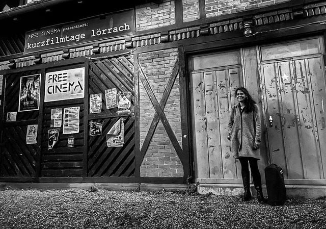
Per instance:
[[[29,124],[38,124],[39,110],[18,112],[20,78],[37,73],[40,72],[12,73],[4,78],[0,175],[12,177],[11,181],[17,180],[18,177],[17,181],[29,181],[38,173],[41,130],[38,129],[37,144],[26,144],[26,132]],[[17,112],[16,121],[7,121],[8,112]]]

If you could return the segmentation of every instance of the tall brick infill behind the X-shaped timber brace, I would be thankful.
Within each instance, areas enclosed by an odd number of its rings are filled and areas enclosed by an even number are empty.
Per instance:
[[[158,100],[165,91],[170,74],[177,59],[177,49],[166,49],[139,55],[139,61],[146,78]],[[155,115],[154,107],[140,82],[140,141],[143,145],[150,124]],[[179,77],[177,77],[167,104],[164,109],[165,115],[176,135],[179,144],[182,146],[181,138],[181,115],[180,115],[180,94]],[[176,151],[159,121],[149,148],[141,165],[141,176],[151,177],[182,177],[183,167]]]

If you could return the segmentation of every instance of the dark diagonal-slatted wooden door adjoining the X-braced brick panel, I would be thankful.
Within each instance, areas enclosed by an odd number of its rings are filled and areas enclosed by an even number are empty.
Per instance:
[[[101,136],[88,138],[88,176],[134,176],[134,67],[133,56],[91,61],[89,65],[89,94],[102,94],[102,110],[89,114],[88,121],[102,123]],[[131,93],[131,112],[117,113],[106,109],[105,90]],[[124,146],[107,147],[106,133],[120,119],[124,122]]]

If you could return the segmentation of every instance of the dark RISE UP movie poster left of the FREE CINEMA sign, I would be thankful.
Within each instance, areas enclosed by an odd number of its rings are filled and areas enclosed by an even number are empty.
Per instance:
[[[39,110],[41,74],[27,75],[20,78],[19,111]]]

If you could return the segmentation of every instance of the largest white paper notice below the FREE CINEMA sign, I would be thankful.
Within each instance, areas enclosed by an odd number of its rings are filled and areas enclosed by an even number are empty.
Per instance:
[[[79,107],[68,107],[64,109],[63,133],[79,133]]]

